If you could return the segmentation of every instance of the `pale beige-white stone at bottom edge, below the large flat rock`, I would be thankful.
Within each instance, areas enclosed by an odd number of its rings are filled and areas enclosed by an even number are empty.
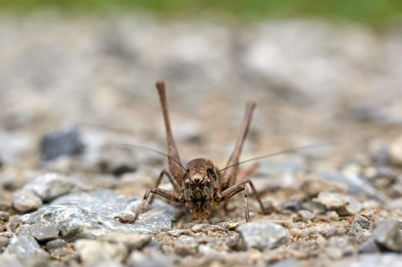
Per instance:
[[[123,262],[129,250],[124,244],[112,244],[106,241],[79,239],[75,241],[74,248],[84,263],[93,262],[96,258]]]

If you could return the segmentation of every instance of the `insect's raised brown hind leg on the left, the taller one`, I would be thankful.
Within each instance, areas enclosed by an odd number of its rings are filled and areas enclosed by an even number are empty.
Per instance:
[[[178,156],[177,149],[174,144],[172,131],[170,129],[168,104],[166,102],[166,93],[165,93],[165,82],[162,80],[158,80],[156,82],[156,88],[158,89],[158,92],[159,92],[160,105],[162,106],[162,113],[164,115],[164,120],[165,120],[166,136],[167,136],[167,141],[168,141],[168,154],[170,157],[172,157],[172,158],[176,159],[178,162],[180,162],[180,158]],[[180,167],[180,165],[177,162],[175,162],[174,160],[172,160],[171,158],[168,158],[168,162],[169,162],[170,172],[173,174],[177,183],[181,184],[182,183],[181,180],[183,178],[182,167]]]

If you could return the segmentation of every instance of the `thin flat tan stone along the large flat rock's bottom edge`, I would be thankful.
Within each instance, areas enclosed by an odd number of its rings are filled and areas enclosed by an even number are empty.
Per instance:
[[[123,243],[130,250],[140,250],[151,241],[151,236],[135,234],[108,234],[99,236],[96,239],[112,243]]]

